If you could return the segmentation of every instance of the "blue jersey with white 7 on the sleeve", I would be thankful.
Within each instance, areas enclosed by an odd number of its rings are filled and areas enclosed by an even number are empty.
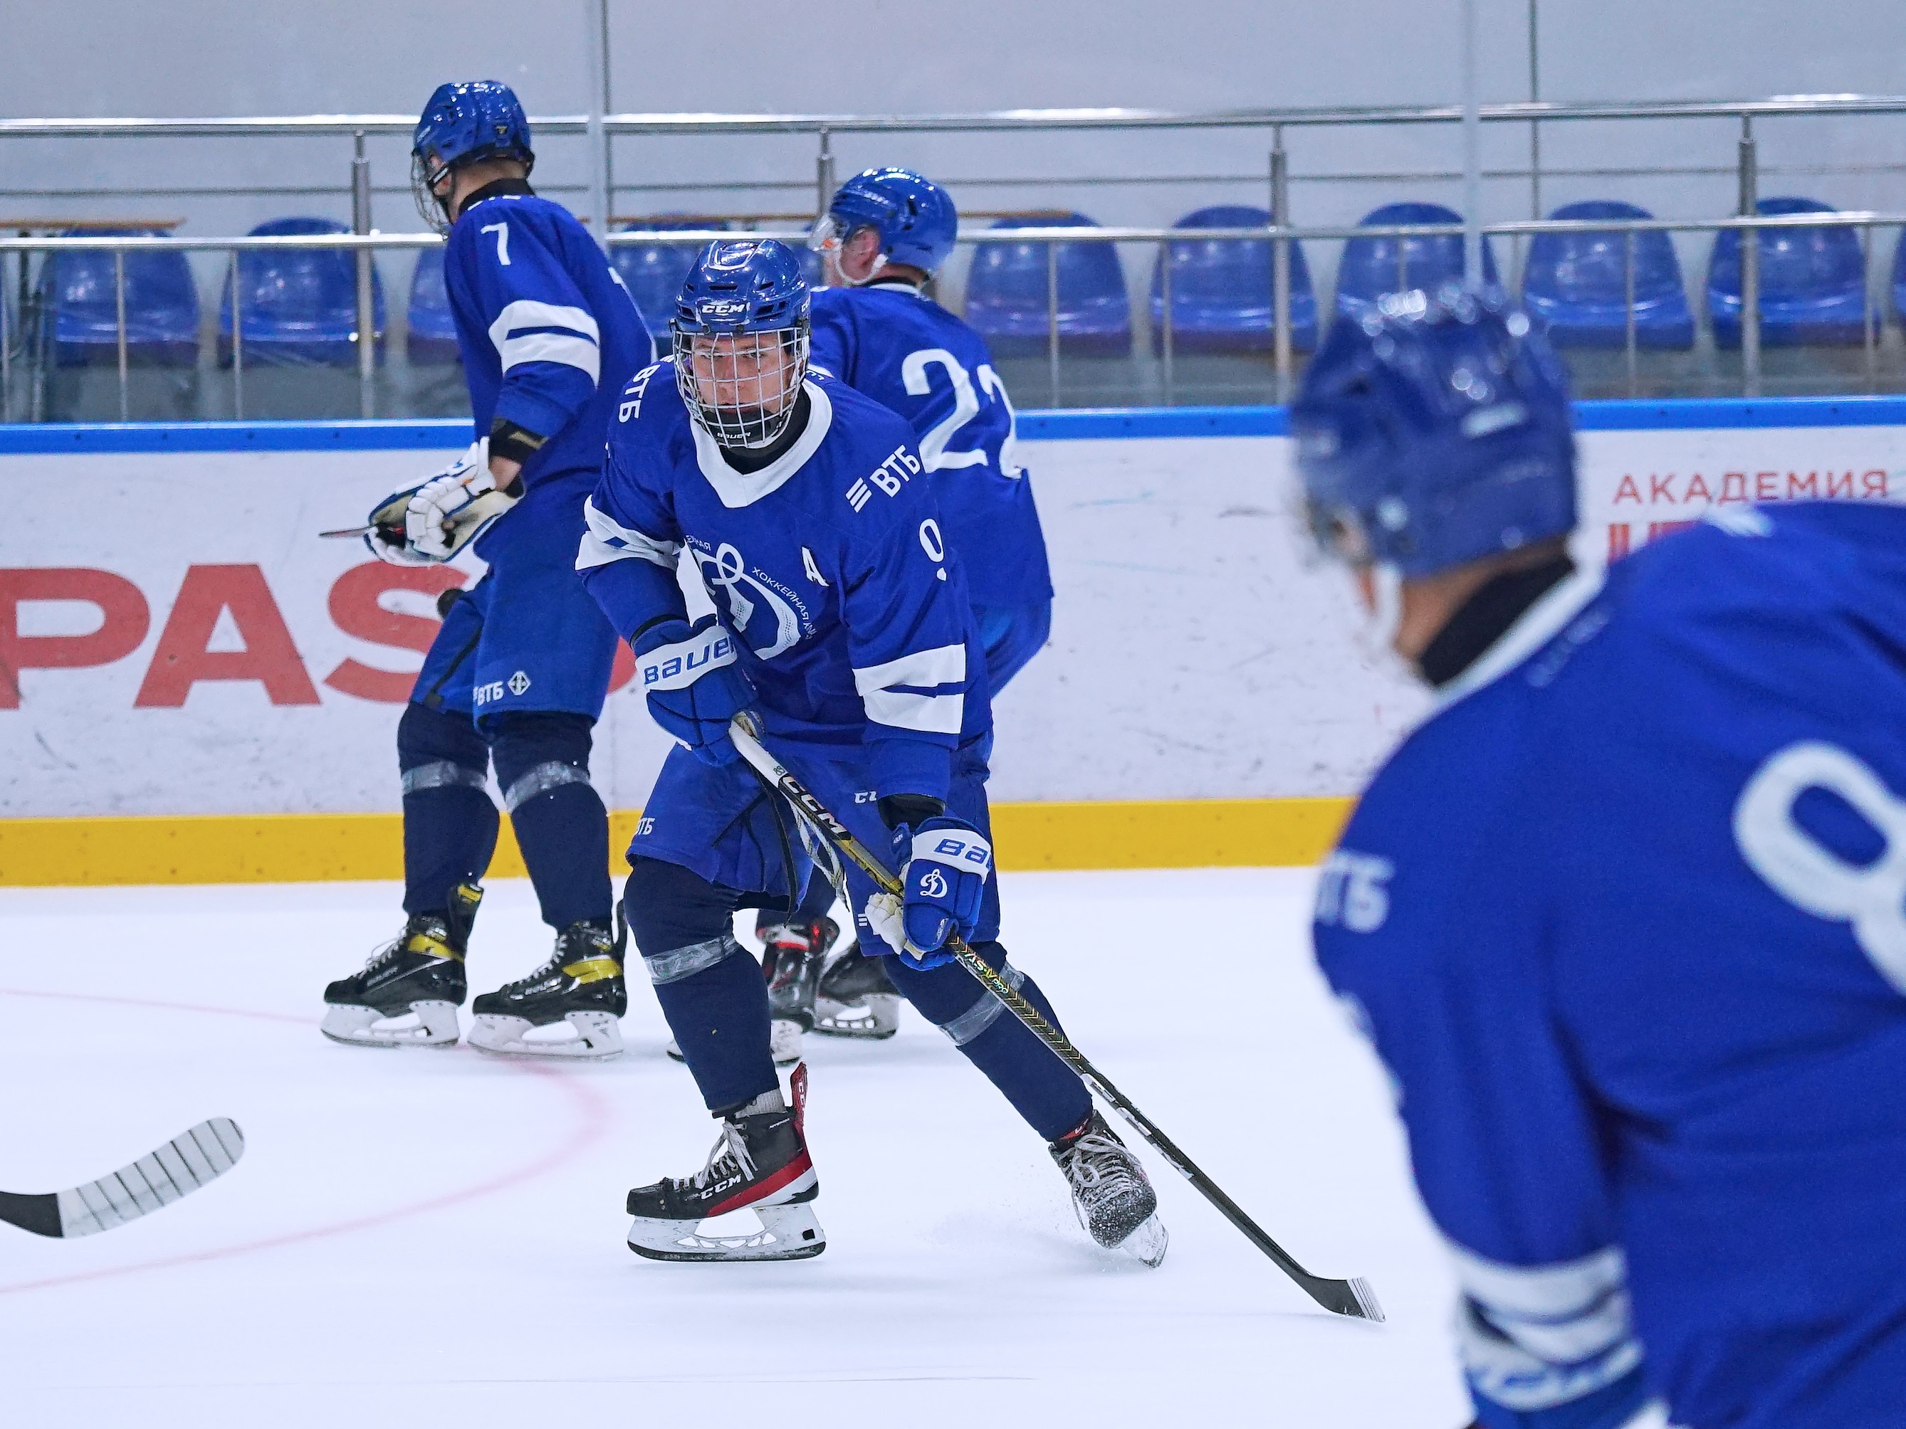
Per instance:
[[[465,206],[450,229],[444,288],[476,434],[505,417],[547,438],[524,463],[524,482],[587,492],[616,394],[654,360],[648,326],[608,257],[560,204],[497,192]],[[497,522],[484,545],[509,526]]]

